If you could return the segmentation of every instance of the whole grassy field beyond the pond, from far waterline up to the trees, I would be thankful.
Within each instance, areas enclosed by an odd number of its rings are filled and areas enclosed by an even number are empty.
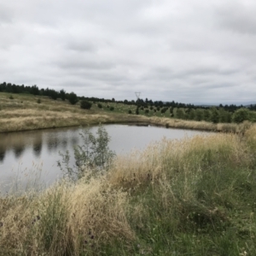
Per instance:
[[[40,103],[39,103],[40,102]],[[113,111],[110,108],[113,107]],[[148,108],[149,109],[149,108]],[[133,114],[128,114],[131,110]],[[140,110],[134,114],[136,106],[121,103],[102,103],[102,108],[93,103],[90,110],[79,108],[79,103],[71,105],[69,102],[52,100],[44,96],[29,94],[0,93],[0,132],[26,131],[46,128],[57,128],[78,125],[97,125],[99,123],[137,123],[144,125],[162,125],[173,128],[195,129],[204,131],[244,132],[249,123],[212,124],[201,121],[187,121],[170,118],[166,113],[150,110],[148,114]]]

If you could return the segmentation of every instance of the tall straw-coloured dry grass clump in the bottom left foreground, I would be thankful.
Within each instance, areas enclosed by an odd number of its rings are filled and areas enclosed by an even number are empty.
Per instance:
[[[93,254],[99,244],[131,241],[126,197],[101,177],[90,183],[58,183],[40,194],[2,198],[0,254]]]

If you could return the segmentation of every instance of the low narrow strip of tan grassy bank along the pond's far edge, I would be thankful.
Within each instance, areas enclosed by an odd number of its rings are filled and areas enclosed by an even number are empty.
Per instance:
[[[119,113],[84,113],[40,111],[38,109],[15,109],[5,111],[0,119],[0,132],[32,131],[49,128],[72,127],[98,124],[157,125],[166,128],[189,129],[198,131],[222,131],[243,133],[251,124],[212,124],[206,121],[146,117]]]

